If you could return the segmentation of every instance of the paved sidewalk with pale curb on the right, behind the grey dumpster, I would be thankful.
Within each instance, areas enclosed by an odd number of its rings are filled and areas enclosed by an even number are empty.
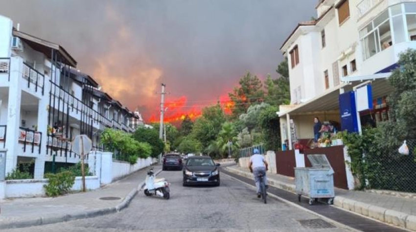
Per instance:
[[[226,169],[252,178],[248,168],[238,165]],[[295,178],[267,173],[269,185],[295,193]],[[294,195],[294,197],[297,197]],[[416,231],[416,200],[377,193],[335,188],[334,205],[373,219]]]

